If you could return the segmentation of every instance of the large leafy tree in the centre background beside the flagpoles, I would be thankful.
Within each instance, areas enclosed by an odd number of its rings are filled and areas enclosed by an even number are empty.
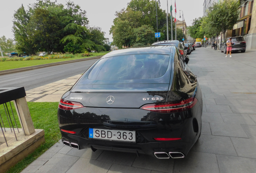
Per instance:
[[[166,14],[159,6],[160,3],[157,2],[158,28],[161,30],[166,23]],[[114,25],[109,31],[113,34],[113,45],[122,48],[156,41],[153,34],[157,32],[154,0],[131,0],[126,9],[116,12],[115,15]]]

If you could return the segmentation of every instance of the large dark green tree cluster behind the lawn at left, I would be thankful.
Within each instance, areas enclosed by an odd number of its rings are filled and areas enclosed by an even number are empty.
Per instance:
[[[27,54],[45,52],[81,53],[105,50],[104,32],[88,26],[86,11],[74,2],[38,0],[28,10],[23,5],[14,13],[13,27],[17,50]]]

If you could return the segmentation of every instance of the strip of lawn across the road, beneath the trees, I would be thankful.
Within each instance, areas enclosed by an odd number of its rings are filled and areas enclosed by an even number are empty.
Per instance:
[[[100,52],[100,53],[91,53],[93,56],[101,56],[107,54],[108,52]],[[52,62],[61,62],[66,60],[75,60],[81,58],[91,58],[93,56],[82,57],[81,54],[75,54],[74,58],[66,58],[66,59],[48,59],[48,60],[21,60],[21,61],[0,61],[0,70],[9,70],[13,68],[21,68],[27,66],[35,66],[41,64],[49,64]]]

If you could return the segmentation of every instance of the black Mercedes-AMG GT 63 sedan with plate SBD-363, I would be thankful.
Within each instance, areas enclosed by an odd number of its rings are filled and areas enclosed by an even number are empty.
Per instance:
[[[97,60],[59,103],[75,149],[183,158],[201,133],[202,93],[175,46],[127,48]]]

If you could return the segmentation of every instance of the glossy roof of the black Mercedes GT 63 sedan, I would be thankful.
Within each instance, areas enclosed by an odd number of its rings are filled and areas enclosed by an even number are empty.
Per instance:
[[[175,48],[175,46],[161,46],[161,45],[155,45],[155,46],[147,46],[147,47],[137,47],[137,48],[124,48],[119,49],[115,51],[111,51],[102,58],[106,58],[109,56],[116,56],[116,55],[124,55],[124,54],[140,54],[140,53],[149,53],[149,54],[169,54],[171,53],[172,48]]]

